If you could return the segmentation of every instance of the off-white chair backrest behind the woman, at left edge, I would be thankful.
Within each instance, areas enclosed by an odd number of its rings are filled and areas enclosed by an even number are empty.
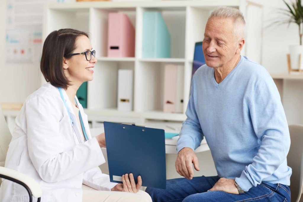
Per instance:
[[[12,135],[8,130],[8,126],[0,106],[0,166],[4,166],[8,145],[11,142],[11,139]]]

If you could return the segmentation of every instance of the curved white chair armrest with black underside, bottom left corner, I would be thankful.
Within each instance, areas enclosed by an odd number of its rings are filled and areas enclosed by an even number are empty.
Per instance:
[[[42,189],[38,182],[36,182],[36,180],[34,180],[32,177],[29,177],[23,173],[0,166],[0,177],[21,184],[23,187],[27,186],[28,188],[25,188],[27,189],[27,191],[30,191],[29,194],[35,198],[40,198],[42,195]],[[19,183],[18,181],[21,183]]]

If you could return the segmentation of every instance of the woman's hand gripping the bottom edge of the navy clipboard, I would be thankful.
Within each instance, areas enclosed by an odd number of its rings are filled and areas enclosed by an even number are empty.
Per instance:
[[[128,178],[129,177],[129,178]],[[138,183],[135,183],[134,175],[132,173],[122,175],[122,182],[123,184],[117,184],[115,187],[111,189],[111,191],[124,191],[124,192],[131,192],[137,193],[142,186],[142,179],[141,176],[138,176]]]

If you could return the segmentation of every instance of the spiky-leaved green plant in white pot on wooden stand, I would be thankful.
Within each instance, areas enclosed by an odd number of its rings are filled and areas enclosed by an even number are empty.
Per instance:
[[[279,21],[279,24],[295,23],[298,25],[300,45],[289,45],[289,54],[291,60],[292,69],[303,69],[303,45],[302,45],[302,35],[303,35],[303,7],[301,0],[295,0],[295,2],[287,3],[283,0],[287,8],[281,9],[282,14],[287,18],[284,21]],[[301,54],[301,63],[299,64],[299,56]]]

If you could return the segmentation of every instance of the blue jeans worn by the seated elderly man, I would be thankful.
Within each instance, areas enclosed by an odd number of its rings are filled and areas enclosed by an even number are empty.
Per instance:
[[[178,178],[167,180],[166,190],[146,188],[153,202],[196,202],[196,201],[290,201],[290,189],[283,184],[263,182],[257,187],[251,187],[245,194],[228,194],[223,191],[207,191],[211,189],[220,178],[194,177],[192,180]]]

